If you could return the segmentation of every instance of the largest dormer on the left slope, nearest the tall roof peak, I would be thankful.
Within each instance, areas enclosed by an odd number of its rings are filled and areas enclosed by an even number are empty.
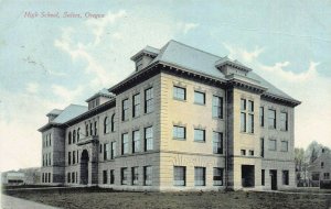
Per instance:
[[[146,46],[137,54],[135,54],[131,57],[131,61],[136,63],[136,72],[147,67],[153,61],[153,58],[156,58],[159,55],[159,53],[160,50],[151,46]]]

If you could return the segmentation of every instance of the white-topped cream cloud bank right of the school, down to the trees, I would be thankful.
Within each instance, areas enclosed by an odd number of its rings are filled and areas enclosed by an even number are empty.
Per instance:
[[[331,80],[318,73],[319,62],[310,62],[300,73],[290,70],[289,61],[266,65],[259,59],[264,52],[256,47],[248,52],[243,47],[225,46],[232,58],[244,64],[280,88],[291,97],[302,101],[296,108],[296,146],[307,147],[313,140],[331,147]]]

